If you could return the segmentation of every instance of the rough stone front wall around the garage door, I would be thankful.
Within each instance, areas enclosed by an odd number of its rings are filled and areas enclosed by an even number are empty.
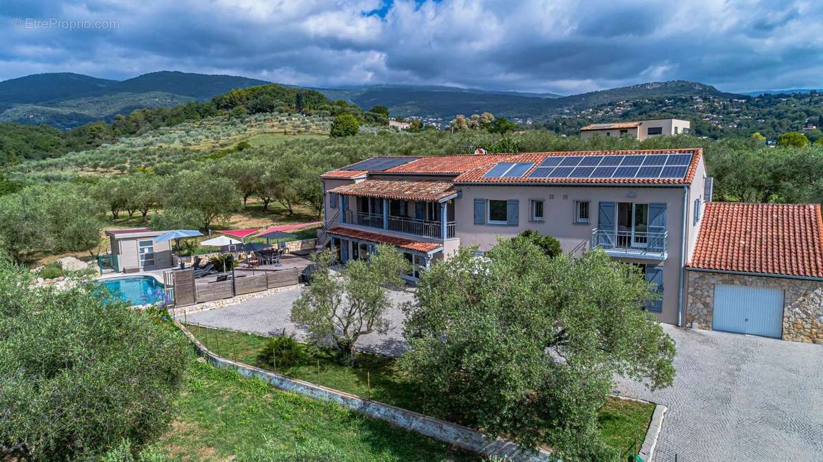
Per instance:
[[[712,328],[714,285],[783,289],[783,340],[823,344],[823,281],[687,270],[686,322]]]

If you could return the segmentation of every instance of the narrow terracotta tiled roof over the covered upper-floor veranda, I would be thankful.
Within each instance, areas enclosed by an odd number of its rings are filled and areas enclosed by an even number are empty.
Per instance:
[[[346,196],[384,197],[408,201],[439,201],[454,194],[451,182],[365,180],[329,190]]]

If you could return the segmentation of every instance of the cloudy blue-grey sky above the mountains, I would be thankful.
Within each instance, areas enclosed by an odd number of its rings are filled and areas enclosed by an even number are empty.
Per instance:
[[[0,80],[178,70],[561,94],[678,79],[821,88],[821,30],[820,0],[0,0]]]

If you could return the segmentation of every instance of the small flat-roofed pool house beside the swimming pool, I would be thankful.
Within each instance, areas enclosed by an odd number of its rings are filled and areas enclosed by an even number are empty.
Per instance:
[[[112,260],[115,270],[123,273],[137,273],[142,270],[160,270],[174,265],[170,241],[156,243],[154,238],[165,231],[148,228],[109,229]],[[114,266],[114,263],[113,265]]]

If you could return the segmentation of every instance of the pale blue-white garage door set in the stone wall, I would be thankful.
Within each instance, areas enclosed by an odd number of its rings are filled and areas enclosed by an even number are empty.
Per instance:
[[[783,289],[717,284],[712,329],[780,338]]]

